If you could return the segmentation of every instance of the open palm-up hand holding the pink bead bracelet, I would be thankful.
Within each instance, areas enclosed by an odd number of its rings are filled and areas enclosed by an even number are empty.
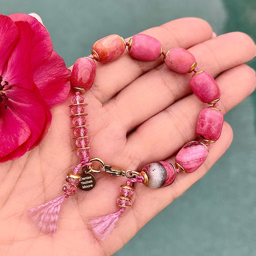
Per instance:
[[[219,108],[226,113],[255,87],[255,73],[243,63],[255,56],[254,42],[233,32],[212,38],[210,26],[198,18],[182,18],[143,33],[158,38],[164,50],[189,49],[198,67],[212,76],[221,89]],[[188,141],[196,139],[196,122],[206,104],[191,94],[191,74],[170,71],[160,57],[154,62],[122,57],[105,65],[97,63],[95,84],[85,94],[91,157],[126,169],[140,170],[147,163],[171,160]],[[70,98],[73,94],[70,95]],[[179,101],[177,101],[180,99]],[[41,233],[28,210],[62,195],[66,173],[79,162],[69,118],[68,100],[52,110],[53,121],[42,143],[25,156],[0,164],[0,226],[2,255],[111,255],[127,243],[159,211],[200,179],[223,155],[232,140],[224,122],[220,139],[209,146],[205,163],[196,172],[179,174],[167,187],[135,185],[133,206],[118,220],[105,242],[88,226],[91,218],[119,208],[116,198],[125,178],[98,174],[90,191],[61,205],[55,236]]]

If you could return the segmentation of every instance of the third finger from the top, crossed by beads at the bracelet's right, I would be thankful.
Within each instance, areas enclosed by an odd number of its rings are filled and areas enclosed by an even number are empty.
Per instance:
[[[256,85],[255,73],[246,65],[223,72],[216,81],[222,93],[218,108],[223,114],[252,93]],[[196,138],[197,118],[204,107],[206,104],[194,94],[184,97],[142,123],[127,137],[127,146],[134,156],[143,155],[141,164],[174,154]]]

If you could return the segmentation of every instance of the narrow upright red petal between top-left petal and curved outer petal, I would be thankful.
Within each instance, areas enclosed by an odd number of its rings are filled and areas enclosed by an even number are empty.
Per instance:
[[[30,55],[34,32],[27,22],[16,22],[15,25],[20,32],[20,39],[9,58],[4,80],[8,81],[11,86],[32,90],[33,72]]]

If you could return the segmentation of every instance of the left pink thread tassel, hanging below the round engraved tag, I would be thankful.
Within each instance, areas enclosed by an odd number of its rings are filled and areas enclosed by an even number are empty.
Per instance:
[[[51,234],[55,232],[60,204],[68,197],[68,195],[63,195],[29,210],[29,213],[33,215],[32,220],[37,222],[37,226],[42,232]]]

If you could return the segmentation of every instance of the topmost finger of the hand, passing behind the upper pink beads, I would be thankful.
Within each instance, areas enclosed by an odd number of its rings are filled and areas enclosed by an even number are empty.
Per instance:
[[[177,46],[186,49],[212,37],[209,24],[199,18],[176,19],[142,33],[157,38],[165,50]],[[103,103],[161,62],[163,62],[163,57],[156,61],[141,61],[132,58],[130,53],[125,51],[119,59],[113,62],[103,65],[97,63],[97,74],[91,90],[96,98]]]

